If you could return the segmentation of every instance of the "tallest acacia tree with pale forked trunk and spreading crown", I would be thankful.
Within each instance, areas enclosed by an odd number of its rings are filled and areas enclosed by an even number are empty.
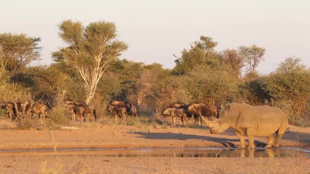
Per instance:
[[[55,61],[72,65],[80,73],[86,89],[86,103],[89,103],[100,78],[127,45],[116,39],[115,24],[106,21],[83,26],[79,21],[65,20],[59,25],[59,36],[68,46],[54,52],[53,57]]]

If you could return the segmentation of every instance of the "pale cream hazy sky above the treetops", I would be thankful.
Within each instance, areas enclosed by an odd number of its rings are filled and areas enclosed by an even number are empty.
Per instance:
[[[116,23],[119,40],[129,48],[121,58],[174,67],[180,55],[201,35],[214,38],[217,50],[257,44],[266,48],[261,73],[273,71],[288,56],[310,66],[310,1],[95,1],[1,0],[0,32],[41,37],[42,61],[64,46],[57,24],[66,19]]]

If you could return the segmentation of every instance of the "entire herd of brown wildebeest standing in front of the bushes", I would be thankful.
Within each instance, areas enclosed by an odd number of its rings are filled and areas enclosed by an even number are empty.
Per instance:
[[[84,102],[74,102],[71,100],[64,100],[63,104],[66,106],[68,111],[71,114],[72,122],[75,122],[75,115],[78,115],[80,121],[83,123],[87,115],[90,115],[91,121],[97,120],[96,109],[93,105],[88,105]],[[36,115],[36,119],[42,118],[45,119],[45,112],[47,106],[42,102],[33,102],[33,101],[20,101],[16,102],[1,101],[0,105],[3,109],[6,109],[9,119],[11,121],[17,121],[21,118],[33,118],[33,115]],[[107,111],[114,115],[115,123],[118,123],[117,119],[120,118],[121,123],[125,124],[127,116],[138,118],[137,108],[129,102],[125,101],[116,101],[112,100],[107,106]],[[172,126],[175,126],[175,119],[180,118],[182,120],[183,126],[184,121],[188,123],[188,119],[193,117],[195,124],[198,126],[200,120],[200,125],[202,125],[202,120],[199,119],[199,116],[204,117],[219,117],[219,109],[216,106],[208,106],[204,103],[194,103],[186,105],[184,103],[171,103],[167,108],[162,111],[164,117],[171,117]]]

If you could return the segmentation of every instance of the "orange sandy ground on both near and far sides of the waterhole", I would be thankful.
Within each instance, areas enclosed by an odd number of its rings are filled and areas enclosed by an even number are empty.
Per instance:
[[[257,147],[267,139],[256,137]],[[0,150],[63,148],[237,147],[231,130],[210,134],[202,128],[102,126],[76,130],[0,130]],[[282,147],[310,147],[310,128],[291,126]],[[0,154],[0,173],[309,173],[307,158],[103,157],[88,155]]]

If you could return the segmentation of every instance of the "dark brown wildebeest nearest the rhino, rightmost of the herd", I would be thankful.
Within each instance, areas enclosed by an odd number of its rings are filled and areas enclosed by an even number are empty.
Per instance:
[[[218,108],[216,106],[208,106],[204,103],[194,103],[188,107],[188,110],[190,113],[199,115],[200,117],[212,117],[212,120],[218,117]],[[200,124],[202,125],[202,120],[200,120]]]

